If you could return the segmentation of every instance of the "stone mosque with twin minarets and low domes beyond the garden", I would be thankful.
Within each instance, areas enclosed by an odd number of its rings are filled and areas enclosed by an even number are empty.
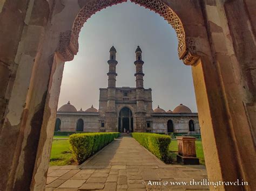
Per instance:
[[[99,109],[85,111],[68,102],[57,111],[55,131],[200,133],[198,114],[183,104],[152,109],[152,89],[143,85],[142,49],[136,49],[136,87],[116,87],[116,48],[110,48],[108,87],[99,89]]]

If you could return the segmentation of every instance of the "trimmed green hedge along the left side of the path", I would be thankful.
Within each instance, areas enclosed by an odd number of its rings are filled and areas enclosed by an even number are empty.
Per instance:
[[[77,133],[69,136],[72,153],[78,164],[82,164],[87,158],[95,154],[114,138],[119,137],[120,133]]]

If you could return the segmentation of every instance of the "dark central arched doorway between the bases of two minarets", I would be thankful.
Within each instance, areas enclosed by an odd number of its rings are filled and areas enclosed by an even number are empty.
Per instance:
[[[133,132],[133,116],[132,111],[124,107],[119,112],[118,132]]]

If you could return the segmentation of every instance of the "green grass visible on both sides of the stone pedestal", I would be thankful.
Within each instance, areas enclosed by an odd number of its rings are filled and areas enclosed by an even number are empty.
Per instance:
[[[169,145],[170,156],[173,161],[176,161],[176,156],[178,154],[178,143],[177,140],[172,140]],[[204,151],[201,140],[196,140],[196,153],[197,158],[199,158],[199,162],[201,165],[205,165]]]

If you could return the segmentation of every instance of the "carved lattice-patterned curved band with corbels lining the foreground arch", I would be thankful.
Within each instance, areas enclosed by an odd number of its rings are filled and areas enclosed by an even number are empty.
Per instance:
[[[78,37],[80,30],[84,23],[96,12],[107,8],[108,6],[116,5],[126,2],[127,0],[89,0],[79,11],[75,22],[73,23],[72,31],[66,31],[60,33],[60,44],[57,53],[63,61],[73,60],[74,55],[77,54],[79,44]],[[193,65],[198,60],[196,55],[193,39],[186,39],[183,24],[177,14],[165,3],[160,0],[131,0],[140,6],[144,6],[146,9],[150,9],[158,13],[177,33],[178,38],[178,56],[183,60],[185,65]]]

